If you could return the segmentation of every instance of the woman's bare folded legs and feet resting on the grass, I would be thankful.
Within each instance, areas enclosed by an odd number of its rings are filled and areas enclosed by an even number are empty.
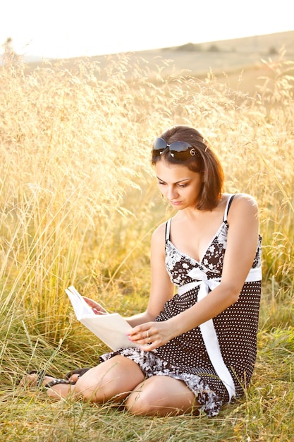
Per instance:
[[[28,386],[37,384],[35,374],[26,379]],[[45,376],[42,385],[52,380],[51,376]],[[169,376],[145,379],[135,362],[120,355],[90,369],[75,385],[57,384],[49,388],[47,394],[55,399],[73,395],[73,398],[97,403],[108,400],[120,403],[127,398],[125,405],[131,413],[147,416],[192,413],[199,407],[195,395],[183,381]]]

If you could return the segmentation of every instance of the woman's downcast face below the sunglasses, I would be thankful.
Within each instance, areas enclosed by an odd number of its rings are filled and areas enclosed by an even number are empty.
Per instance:
[[[160,160],[155,165],[159,190],[178,210],[195,208],[202,189],[203,174],[182,165]]]

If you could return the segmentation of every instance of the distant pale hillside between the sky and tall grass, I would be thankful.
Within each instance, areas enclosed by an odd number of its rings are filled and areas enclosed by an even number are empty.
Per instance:
[[[277,61],[281,59],[281,51],[285,52],[284,59],[294,60],[294,30],[199,44],[188,42],[178,47],[131,52],[128,54],[130,71],[125,75],[131,75],[132,62],[138,65],[138,59],[144,59],[150,75],[152,76],[154,71],[155,76],[159,60],[168,59],[170,62],[162,69],[162,75],[191,75],[204,78],[212,72],[219,81],[225,81],[232,89],[253,93],[257,78],[264,74],[269,75],[269,69],[262,59]],[[119,55],[98,55],[87,59],[98,61],[103,69],[109,58]],[[63,63],[67,68],[71,68],[75,61],[76,58],[66,59]],[[51,64],[55,63],[60,64],[60,60],[51,60]],[[33,61],[28,64],[28,68],[32,70],[42,64],[42,60]]]

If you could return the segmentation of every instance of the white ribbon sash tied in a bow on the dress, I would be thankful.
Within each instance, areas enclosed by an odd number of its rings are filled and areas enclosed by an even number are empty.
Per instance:
[[[195,281],[188,282],[188,284],[178,287],[178,295],[181,296],[185,292],[188,292],[199,285],[200,289],[198,292],[198,301],[207,296],[209,289],[212,290],[221,283],[221,278],[207,279],[207,274],[203,270],[200,270],[200,268],[192,268],[188,275]],[[262,280],[262,269],[257,267],[250,269],[245,282],[260,280]],[[221,349],[219,347],[219,340],[217,339],[216,330],[214,328],[214,322],[212,319],[200,324],[200,330],[209,359],[212,362],[212,365],[214,366],[219,378],[228,390],[229,402],[231,402],[231,398],[235,396],[235,384],[230,371],[228,371],[226,364],[223,362]]]

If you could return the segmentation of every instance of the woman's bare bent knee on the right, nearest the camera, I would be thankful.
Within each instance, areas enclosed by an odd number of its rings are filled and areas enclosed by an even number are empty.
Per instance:
[[[200,406],[183,381],[169,376],[146,379],[128,396],[125,405],[131,413],[145,416],[195,413]]]

